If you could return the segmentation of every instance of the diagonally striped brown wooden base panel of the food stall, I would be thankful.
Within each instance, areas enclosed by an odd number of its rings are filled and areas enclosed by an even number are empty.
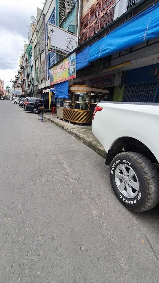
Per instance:
[[[93,110],[63,109],[63,118],[73,123],[89,124],[92,116]]]

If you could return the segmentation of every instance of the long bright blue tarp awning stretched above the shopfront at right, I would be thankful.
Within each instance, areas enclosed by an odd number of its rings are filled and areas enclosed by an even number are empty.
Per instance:
[[[89,46],[88,62],[159,37],[159,3]]]

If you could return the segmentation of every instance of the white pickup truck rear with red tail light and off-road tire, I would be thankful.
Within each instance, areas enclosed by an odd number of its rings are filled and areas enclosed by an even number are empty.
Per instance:
[[[107,152],[111,186],[120,202],[146,211],[159,202],[159,104],[100,102],[93,134]]]

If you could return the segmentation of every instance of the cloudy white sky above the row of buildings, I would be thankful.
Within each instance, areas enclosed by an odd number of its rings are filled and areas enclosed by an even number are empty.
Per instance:
[[[28,44],[30,16],[37,16],[37,7],[43,8],[44,0],[5,0],[0,8],[0,79],[4,85],[15,79],[24,44]]]

